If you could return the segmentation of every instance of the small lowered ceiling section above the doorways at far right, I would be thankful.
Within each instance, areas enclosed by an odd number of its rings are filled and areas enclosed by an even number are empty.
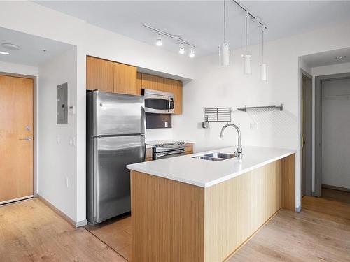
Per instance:
[[[335,59],[335,57],[346,56],[344,59]],[[332,64],[350,63],[350,48],[342,48],[321,52],[316,54],[308,54],[301,57],[308,66],[330,66]]]

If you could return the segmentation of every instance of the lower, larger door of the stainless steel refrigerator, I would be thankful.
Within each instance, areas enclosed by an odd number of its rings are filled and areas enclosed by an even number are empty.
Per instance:
[[[94,221],[130,212],[130,170],[145,160],[145,136],[94,138]]]

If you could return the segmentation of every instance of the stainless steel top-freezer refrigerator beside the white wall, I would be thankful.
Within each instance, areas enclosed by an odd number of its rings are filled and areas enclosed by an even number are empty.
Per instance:
[[[98,224],[129,212],[130,170],[145,160],[144,97],[87,93],[87,220]]]

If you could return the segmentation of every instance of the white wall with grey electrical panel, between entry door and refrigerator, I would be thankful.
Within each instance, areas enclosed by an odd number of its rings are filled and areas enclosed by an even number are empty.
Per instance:
[[[76,115],[56,124],[57,85],[68,83],[68,105],[76,105],[76,48],[39,67],[38,194],[76,221]],[[68,187],[66,186],[68,180]]]

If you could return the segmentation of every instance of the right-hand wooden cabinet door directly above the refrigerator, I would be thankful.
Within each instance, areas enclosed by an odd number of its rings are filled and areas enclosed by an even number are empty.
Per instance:
[[[138,94],[137,68],[127,64],[114,63],[114,93]]]

